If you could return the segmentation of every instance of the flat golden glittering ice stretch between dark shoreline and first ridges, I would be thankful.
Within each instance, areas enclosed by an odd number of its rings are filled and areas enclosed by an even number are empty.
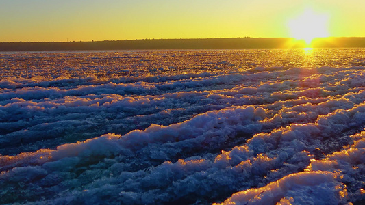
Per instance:
[[[0,53],[2,85],[90,85],[102,81],[160,81],[187,73],[216,74],[264,67],[364,66],[364,49],[244,49],[222,51],[120,51]],[[168,79],[169,77],[167,77]],[[14,80],[15,79],[15,80]],[[166,78],[165,78],[166,79]],[[86,81],[84,81],[86,80]],[[53,81],[48,84],[49,81]],[[34,85],[31,85],[34,83]]]

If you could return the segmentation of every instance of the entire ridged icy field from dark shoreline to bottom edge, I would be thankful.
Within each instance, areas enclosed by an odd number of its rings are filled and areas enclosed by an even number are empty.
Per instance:
[[[365,49],[0,61],[0,204],[365,202]]]

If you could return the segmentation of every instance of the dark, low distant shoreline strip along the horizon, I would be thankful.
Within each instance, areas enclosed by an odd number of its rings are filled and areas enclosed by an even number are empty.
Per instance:
[[[306,48],[294,38],[193,38],[104,40],[92,42],[0,42],[0,51],[90,51],[149,49],[290,49]],[[313,48],[365,47],[364,37],[316,38]]]

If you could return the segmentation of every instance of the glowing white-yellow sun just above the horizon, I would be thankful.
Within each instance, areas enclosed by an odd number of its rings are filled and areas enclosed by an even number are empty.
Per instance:
[[[292,37],[305,40],[309,45],[313,38],[328,37],[329,16],[317,14],[312,9],[307,9],[296,18],[288,21],[288,29]]]

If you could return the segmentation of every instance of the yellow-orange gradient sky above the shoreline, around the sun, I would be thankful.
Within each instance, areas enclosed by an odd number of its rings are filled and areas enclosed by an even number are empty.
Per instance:
[[[329,36],[365,36],[364,0],[0,0],[0,42],[291,37],[305,8]]]

